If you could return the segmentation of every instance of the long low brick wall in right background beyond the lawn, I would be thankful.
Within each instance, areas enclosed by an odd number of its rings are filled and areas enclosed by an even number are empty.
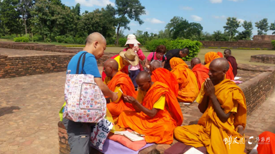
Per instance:
[[[204,47],[246,47],[246,48],[267,48],[272,49],[271,42],[257,42],[257,41],[200,41]]]

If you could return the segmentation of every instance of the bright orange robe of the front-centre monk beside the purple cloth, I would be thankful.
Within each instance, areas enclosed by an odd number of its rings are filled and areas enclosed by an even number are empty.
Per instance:
[[[142,105],[151,110],[160,96],[165,96],[165,108],[150,118],[143,112],[123,111],[118,117],[118,126],[130,128],[133,131],[145,135],[147,143],[171,144],[173,142],[173,130],[183,121],[181,109],[171,89],[161,83],[155,82],[146,92]]]

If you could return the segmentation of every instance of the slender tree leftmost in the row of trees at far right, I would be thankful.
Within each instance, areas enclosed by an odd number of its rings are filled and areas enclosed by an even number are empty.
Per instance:
[[[240,27],[239,21],[237,21],[237,18],[235,17],[228,17],[226,21],[226,26],[223,26],[224,31],[229,33],[229,41],[231,37],[235,36],[235,34],[238,32],[237,28]]]

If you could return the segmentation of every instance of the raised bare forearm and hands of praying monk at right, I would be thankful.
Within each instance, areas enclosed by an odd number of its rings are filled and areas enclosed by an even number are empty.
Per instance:
[[[211,99],[213,103],[213,108],[217,114],[217,117],[222,123],[225,123],[230,117],[231,112],[227,114],[224,113],[223,109],[221,108],[216,98],[214,85],[209,78],[206,79],[204,88],[205,88],[205,94],[209,97],[209,99]]]

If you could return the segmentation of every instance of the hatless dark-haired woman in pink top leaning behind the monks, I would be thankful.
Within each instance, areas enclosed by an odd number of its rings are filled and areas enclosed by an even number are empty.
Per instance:
[[[145,61],[145,71],[149,71],[149,64],[151,61],[154,60],[158,60],[161,62],[161,66],[163,68],[165,61],[166,61],[166,57],[164,56],[164,54],[166,53],[166,47],[164,45],[158,45],[155,49],[155,52],[151,52]]]

